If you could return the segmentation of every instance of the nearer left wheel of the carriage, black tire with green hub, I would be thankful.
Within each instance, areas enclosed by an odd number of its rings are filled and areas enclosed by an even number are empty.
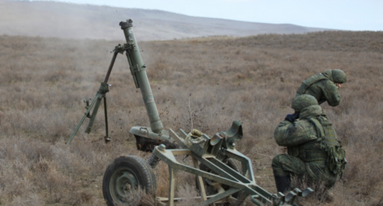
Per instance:
[[[108,206],[130,205],[124,201],[123,196],[132,188],[133,190],[144,189],[147,194],[154,197],[157,189],[154,172],[149,163],[141,157],[118,157],[104,173],[102,192],[106,204]]]

